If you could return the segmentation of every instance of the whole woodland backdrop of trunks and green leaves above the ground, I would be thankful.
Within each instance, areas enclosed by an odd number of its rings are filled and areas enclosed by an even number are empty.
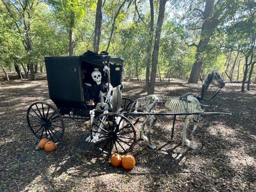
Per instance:
[[[44,56],[108,51],[125,76],[256,82],[254,0],[0,0],[0,70],[35,80]],[[3,79],[1,79],[3,80]]]

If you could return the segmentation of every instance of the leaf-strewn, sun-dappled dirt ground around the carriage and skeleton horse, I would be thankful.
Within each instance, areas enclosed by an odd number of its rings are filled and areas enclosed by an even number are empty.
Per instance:
[[[1,74],[2,75],[2,74]],[[12,79],[12,78],[11,78]],[[241,93],[241,84],[226,84],[207,111],[232,113],[201,116],[195,143],[185,145],[180,159],[183,118],[178,118],[171,140],[170,117],[158,117],[152,131],[157,150],[138,141],[131,154],[131,171],[112,167],[109,156],[85,142],[88,123],[65,121],[63,141],[56,151],[36,150],[36,138],[26,122],[26,110],[35,101],[49,99],[45,75],[37,81],[0,82],[0,191],[136,192],[136,191],[256,191],[256,86]],[[145,96],[145,82],[125,79],[123,96]],[[156,93],[199,95],[201,84],[174,80],[156,84]],[[214,88],[209,90],[212,93]],[[208,93],[208,94],[209,94]],[[193,123],[190,122],[190,138]],[[136,126],[139,134],[139,125]]]

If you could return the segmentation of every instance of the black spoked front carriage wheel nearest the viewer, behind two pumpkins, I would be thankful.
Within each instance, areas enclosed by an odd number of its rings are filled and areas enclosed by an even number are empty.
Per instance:
[[[105,113],[93,121],[91,139],[102,153],[127,154],[136,143],[136,131],[126,117],[117,113]]]

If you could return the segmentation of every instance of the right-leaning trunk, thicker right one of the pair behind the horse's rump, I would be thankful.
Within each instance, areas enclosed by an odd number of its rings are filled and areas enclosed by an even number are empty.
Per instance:
[[[162,24],[163,24],[163,19],[164,19],[166,2],[167,2],[167,0],[159,1],[158,21],[157,21],[157,26],[156,26],[155,43],[154,43],[154,49],[153,49],[153,53],[152,53],[152,60],[151,60],[150,84],[149,84],[149,87],[147,90],[148,95],[154,94],[154,91],[155,91],[157,66],[158,66],[159,43],[160,43],[160,35],[161,35],[161,29],[162,29]]]

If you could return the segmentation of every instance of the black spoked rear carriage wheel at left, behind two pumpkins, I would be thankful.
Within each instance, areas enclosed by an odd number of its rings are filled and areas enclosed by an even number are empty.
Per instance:
[[[41,140],[48,138],[54,143],[60,142],[65,125],[61,114],[46,102],[35,102],[27,109],[27,124],[31,132]]]

